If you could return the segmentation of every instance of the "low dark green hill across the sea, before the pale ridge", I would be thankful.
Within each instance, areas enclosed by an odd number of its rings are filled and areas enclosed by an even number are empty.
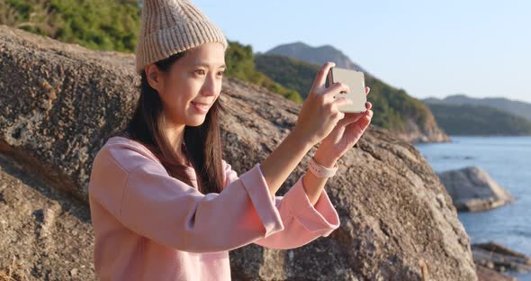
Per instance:
[[[529,135],[531,122],[496,108],[471,104],[428,104],[450,135]]]

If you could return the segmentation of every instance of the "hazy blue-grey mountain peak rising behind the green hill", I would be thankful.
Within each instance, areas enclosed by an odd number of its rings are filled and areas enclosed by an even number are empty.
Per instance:
[[[327,61],[334,61],[338,68],[348,68],[358,71],[365,69],[350,60],[342,51],[330,46],[311,47],[301,41],[279,45],[266,51],[266,55],[282,55],[293,59],[301,59],[312,64],[322,65]]]

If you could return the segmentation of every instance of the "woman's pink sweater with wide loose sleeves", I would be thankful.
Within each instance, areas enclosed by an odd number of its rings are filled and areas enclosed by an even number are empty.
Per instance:
[[[258,163],[240,176],[224,160],[223,168],[223,190],[203,195],[139,142],[109,139],[88,186],[100,280],[230,280],[230,249],[293,249],[339,227],[327,193],[312,206],[302,177],[271,196]]]

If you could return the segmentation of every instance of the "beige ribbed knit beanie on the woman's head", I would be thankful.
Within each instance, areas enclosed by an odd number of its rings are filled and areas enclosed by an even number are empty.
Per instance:
[[[188,0],[144,0],[142,3],[136,71],[203,43],[229,44],[223,32]]]

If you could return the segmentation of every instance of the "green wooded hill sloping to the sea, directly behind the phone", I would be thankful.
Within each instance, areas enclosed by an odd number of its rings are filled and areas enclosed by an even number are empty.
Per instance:
[[[255,66],[275,82],[295,90],[303,99],[306,99],[320,68],[320,65],[301,59],[265,54],[255,55]],[[365,84],[371,87],[368,100],[373,104],[375,125],[397,132],[408,141],[449,140],[426,104],[369,74],[365,76]]]

